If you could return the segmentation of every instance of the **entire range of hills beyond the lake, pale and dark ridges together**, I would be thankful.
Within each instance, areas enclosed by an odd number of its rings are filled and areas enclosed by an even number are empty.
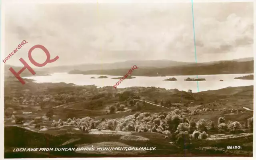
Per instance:
[[[235,74],[253,73],[254,58],[242,58],[235,60],[214,61],[214,62],[178,62],[172,60],[130,60],[125,62],[104,63],[104,64],[77,64],[72,66],[42,67],[34,69],[36,75],[45,75],[54,72],[69,72],[70,74],[106,74],[122,76],[127,69],[138,66],[140,71],[134,72],[134,76],[157,76],[161,75],[200,75],[200,74]],[[5,76],[12,76],[8,70],[13,67],[18,71],[22,67],[5,65]],[[25,70],[21,76],[32,76]]]

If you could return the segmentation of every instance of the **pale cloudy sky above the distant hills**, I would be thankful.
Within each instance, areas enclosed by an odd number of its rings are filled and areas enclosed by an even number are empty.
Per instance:
[[[47,66],[127,60],[209,62],[253,57],[253,3],[19,4],[5,8],[6,64],[22,66],[43,45]],[[32,52],[43,63],[40,49]],[[32,64],[31,64],[32,65]],[[34,67],[34,66],[32,66]]]

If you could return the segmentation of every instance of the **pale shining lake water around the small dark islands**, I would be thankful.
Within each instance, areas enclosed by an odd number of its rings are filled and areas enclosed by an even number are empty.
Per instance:
[[[217,74],[217,75],[198,75],[198,78],[205,78],[206,81],[184,81],[184,79],[196,78],[196,76],[166,76],[166,77],[145,77],[135,76],[134,79],[126,79],[121,82],[117,88],[126,88],[133,86],[140,87],[160,87],[166,89],[178,90],[192,90],[192,92],[200,92],[206,90],[218,90],[226,87],[236,86],[250,86],[253,85],[254,80],[236,80],[235,77],[246,76],[250,74]],[[24,77],[36,80],[38,83],[43,82],[65,82],[74,83],[76,85],[96,85],[96,86],[114,86],[118,80],[111,78],[120,76],[108,76],[108,78],[99,78],[101,75],[82,75],[82,74],[67,74],[67,73],[54,73],[51,76],[31,76]],[[95,79],[91,79],[95,77]],[[177,81],[164,81],[168,78],[176,78]],[[223,80],[223,81],[220,81]]]

